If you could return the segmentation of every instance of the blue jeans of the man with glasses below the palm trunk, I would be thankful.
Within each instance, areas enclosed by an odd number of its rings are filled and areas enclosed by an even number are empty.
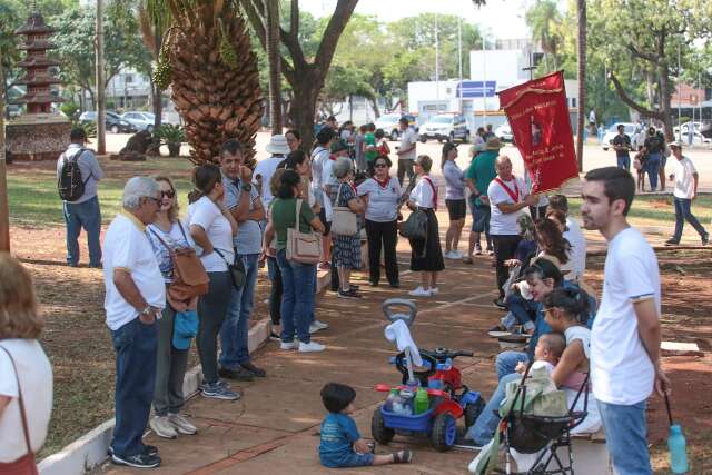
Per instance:
[[[259,254],[235,255],[245,266],[245,285],[239,289],[230,286],[230,304],[227,317],[220,327],[220,367],[237,369],[243,363],[249,363],[247,335],[249,315],[255,307],[255,284],[257,284],[257,260]]]

